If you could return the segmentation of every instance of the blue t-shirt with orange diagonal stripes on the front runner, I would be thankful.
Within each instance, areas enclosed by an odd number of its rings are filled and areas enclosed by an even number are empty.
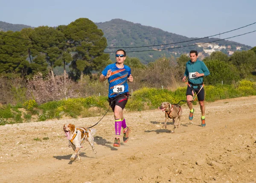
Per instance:
[[[108,78],[108,97],[112,98],[117,96],[118,94],[128,92],[128,83],[127,83],[127,78],[131,74],[131,68],[128,67],[127,65],[124,65],[122,69],[119,69],[116,67],[116,63],[114,64],[109,64],[103,71],[102,74],[104,76],[107,76],[108,70],[112,71],[111,76]],[[113,93],[113,88],[116,85],[124,85],[124,91],[120,93]]]

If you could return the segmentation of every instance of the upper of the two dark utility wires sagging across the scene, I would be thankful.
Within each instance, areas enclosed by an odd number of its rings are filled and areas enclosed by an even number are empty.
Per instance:
[[[251,26],[253,24],[256,24],[256,22],[250,23],[250,24],[248,24],[246,26],[239,27],[237,29],[233,29],[233,30],[230,30],[230,31],[227,31],[227,32],[222,32],[222,33],[215,34],[215,35],[210,35],[210,36],[207,36],[207,37],[204,37],[204,38],[210,38],[210,37],[214,37],[216,35],[222,35],[222,34],[225,34],[225,33],[228,33],[228,32],[233,32],[235,30],[242,29],[244,27]],[[44,42],[44,41],[36,41],[36,40],[30,40],[30,39],[25,39],[25,38],[19,38],[19,37],[15,37],[15,36],[11,36],[11,35],[5,35],[5,34],[1,34],[1,33],[0,33],[0,35],[8,36],[8,37],[11,37],[11,38],[22,39],[22,40],[26,40],[26,41],[32,41],[32,42],[37,42],[37,43],[49,44],[49,45],[69,46],[67,44],[53,44],[53,43]],[[150,45],[150,46],[131,46],[131,47],[122,47],[122,48],[145,48],[145,47],[152,47],[152,46],[166,46],[166,45],[172,45],[172,44],[186,43],[186,42],[190,42],[190,41],[197,41],[197,40],[204,39],[204,38],[197,38],[197,39],[192,39],[192,40],[187,40],[187,41],[180,41],[180,42],[169,43],[169,44],[157,44],[157,45]],[[71,46],[75,46],[75,45],[71,45]],[[108,49],[119,48],[119,47],[94,47],[94,46],[76,46],[76,47],[83,47],[83,48],[108,48]]]

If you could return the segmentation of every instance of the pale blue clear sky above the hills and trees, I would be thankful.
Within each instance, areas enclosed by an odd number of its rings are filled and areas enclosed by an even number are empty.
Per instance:
[[[95,23],[120,18],[201,38],[255,23],[255,7],[256,0],[0,0],[0,21],[37,27],[67,25],[81,17]],[[254,30],[256,24],[220,38]],[[256,32],[228,40],[256,46]]]

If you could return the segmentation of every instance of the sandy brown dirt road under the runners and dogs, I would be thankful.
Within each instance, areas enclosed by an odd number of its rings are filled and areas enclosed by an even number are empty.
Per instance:
[[[89,127],[102,116],[0,126],[0,182],[256,183],[256,96],[206,103],[206,128],[199,105],[194,125],[182,107],[174,134],[161,110],[125,112],[132,132],[119,148],[109,112],[94,127],[97,153],[84,142],[80,162],[69,160],[63,124]]]

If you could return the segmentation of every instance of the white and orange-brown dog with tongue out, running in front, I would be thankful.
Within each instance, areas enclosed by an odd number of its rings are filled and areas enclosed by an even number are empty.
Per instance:
[[[96,133],[96,129],[76,127],[72,124],[65,124],[63,125],[63,131],[65,132],[65,136],[67,137],[70,146],[74,150],[74,153],[70,157],[70,160],[76,160],[76,158],[77,160],[81,160],[81,158],[79,157],[79,150],[84,140],[87,140],[89,142],[90,146],[93,148],[94,154],[96,153],[93,142],[93,135]]]

